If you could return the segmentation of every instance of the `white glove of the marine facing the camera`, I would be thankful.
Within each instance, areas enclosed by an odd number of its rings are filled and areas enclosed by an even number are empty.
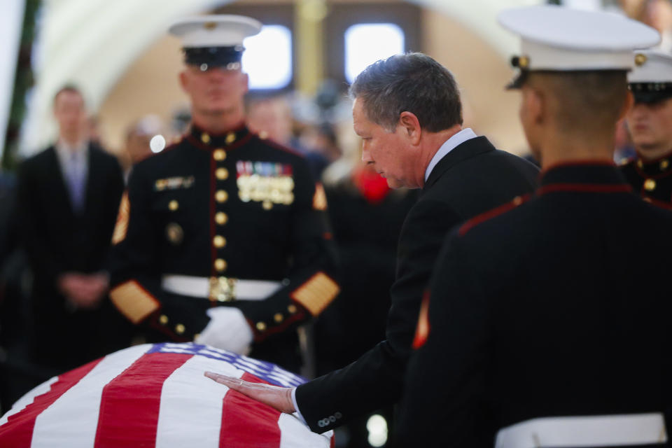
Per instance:
[[[197,344],[207,344],[241,355],[250,352],[252,328],[242,311],[235,307],[216,307],[208,309],[207,313],[210,322],[195,339]]]

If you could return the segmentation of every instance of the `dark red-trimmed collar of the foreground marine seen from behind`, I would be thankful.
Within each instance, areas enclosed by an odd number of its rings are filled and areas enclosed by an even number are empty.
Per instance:
[[[576,160],[553,165],[540,172],[538,194],[550,191],[622,193],[631,191],[612,160]]]

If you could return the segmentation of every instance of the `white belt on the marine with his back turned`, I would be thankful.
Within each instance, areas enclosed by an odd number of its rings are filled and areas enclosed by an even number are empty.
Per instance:
[[[497,433],[495,448],[600,447],[667,441],[662,414],[548,417],[516,423]]]

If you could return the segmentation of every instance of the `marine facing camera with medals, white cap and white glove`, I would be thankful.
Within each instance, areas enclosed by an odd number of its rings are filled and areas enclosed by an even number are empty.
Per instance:
[[[215,85],[217,76],[244,76],[242,39],[259,29],[251,18],[205,16],[171,31],[183,38],[188,69]],[[222,92],[239,86],[225,82],[216,84]],[[192,123],[133,169],[113,239],[111,298],[158,339],[297,370],[294,329],[339,291],[325,210],[302,156],[241,121],[225,132]]]

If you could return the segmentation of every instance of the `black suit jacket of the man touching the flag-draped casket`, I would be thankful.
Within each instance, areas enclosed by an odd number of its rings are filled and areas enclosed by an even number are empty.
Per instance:
[[[330,430],[399,400],[421,297],[442,241],[461,221],[531,192],[537,175],[534,165],[497,151],[485,137],[465,141],[440,160],[401,230],[387,339],[296,390],[311,430]]]

